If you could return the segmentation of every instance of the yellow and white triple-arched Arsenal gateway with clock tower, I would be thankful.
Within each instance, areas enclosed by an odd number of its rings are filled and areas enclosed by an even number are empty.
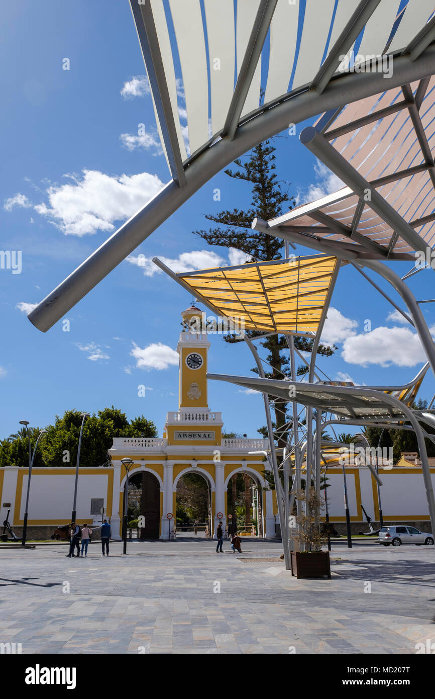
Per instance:
[[[268,440],[222,438],[221,412],[208,407],[207,354],[210,346],[205,331],[205,314],[191,306],[182,312],[183,330],[179,336],[178,410],[168,412],[163,438],[115,438],[109,454],[114,468],[112,531],[120,526],[126,478],[121,459],[130,457],[134,465],[129,477],[142,472],[146,478],[145,535],[170,538],[175,521],[177,482],[185,473],[202,475],[211,491],[212,531],[219,520],[227,521],[227,487],[235,473],[247,473],[258,484],[260,500],[259,531],[265,538],[275,536],[274,491],[267,488],[264,470]],[[115,511],[118,510],[118,514]],[[171,517],[172,515],[172,517]]]

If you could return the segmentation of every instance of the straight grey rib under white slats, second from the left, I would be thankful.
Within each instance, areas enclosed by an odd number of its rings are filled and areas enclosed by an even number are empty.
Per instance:
[[[239,123],[240,115],[246,101],[246,96],[251,87],[251,82],[254,73],[256,72],[258,61],[260,60],[261,50],[265,43],[267,32],[269,31],[270,22],[277,6],[278,0],[261,0],[260,6],[253,22],[251,36],[249,36],[248,45],[244,53],[242,67],[240,68],[239,77],[237,78],[236,86],[231,99],[228,114],[226,115],[225,124],[223,125],[222,136],[228,136],[233,140]]]

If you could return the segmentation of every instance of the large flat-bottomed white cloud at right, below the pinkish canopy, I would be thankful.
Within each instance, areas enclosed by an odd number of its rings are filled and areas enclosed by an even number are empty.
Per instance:
[[[434,332],[434,328],[431,328]],[[341,356],[350,364],[379,366],[415,366],[426,361],[418,338],[408,328],[379,327],[345,340]]]

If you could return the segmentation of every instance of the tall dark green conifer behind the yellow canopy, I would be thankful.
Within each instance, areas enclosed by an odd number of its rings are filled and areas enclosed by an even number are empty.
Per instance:
[[[244,180],[252,185],[251,207],[248,209],[235,208],[232,211],[223,210],[217,214],[206,214],[205,218],[218,224],[208,231],[193,231],[209,245],[219,245],[221,247],[235,247],[237,250],[249,255],[250,262],[267,261],[281,259],[283,253],[283,240],[260,233],[251,229],[251,223],[258,217],[267,221],[268,219],[280,216],[283,213],[283,206],[290,210],[295,205],[295,199],[289,195],[290,183],[286,189],[281,187],[275,172],[275,151],[277,149],[270,140],[257,145],[245,159],[238,158],[235,164],[239,168],[236,171],[228,169],[225,171],[228,177],[233,180]],[[247,331],[250,338],[256,338],[264,333],[258,331]],[[234,336],[225,336],[226,342],[239,342]],[[283,336],[273,335],[266,338],[261,343],[268,350],[266,357],[270,364],[270,370],[265,372],[267,378],[282,379],[290,377],[290,361],[288,359],[287,343]],[[310,338],[295,338],[295,347],[303,352],[310,352],[313,340]],[[318,354],[330,356],[335,348],[319,345]],[[285,353],[284,353],[285,352]],[[253,368],[253,372],[258,373],[258,368]],[[297,375],[306,373],[300,367]],[[295,379],[295,377],[293,377]],[[274,401],[274,428],[277,432],[277,442],[279,446],[286,443],[286,409],[288,403],[281,399]],[[265,428],[258,431],[264,433]]]

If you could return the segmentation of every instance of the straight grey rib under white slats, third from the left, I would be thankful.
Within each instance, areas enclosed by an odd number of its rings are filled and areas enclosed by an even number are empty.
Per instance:
[[[340,56],[346,55],[358,34],[364,29],[374,10],[376,10],[381,0],[361,0],[355,12],[348,20],[343,31],[332,46],[325,61],[320,66],[317,75],[311,82],[310,89],[315,89],[318,94],[323,92],[328,82],[334,75],[340,64]]]

